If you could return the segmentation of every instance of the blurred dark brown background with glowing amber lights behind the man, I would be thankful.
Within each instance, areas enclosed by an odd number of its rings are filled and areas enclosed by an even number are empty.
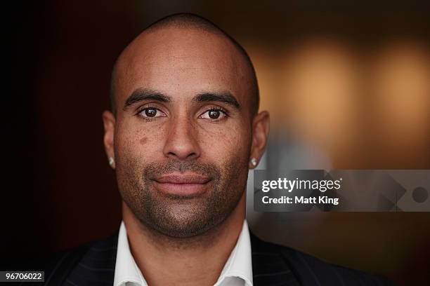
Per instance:
[[[117,229],[120,197],[101,121],[110,72],[129,41],[171,13],[209,18],[252,58],[261,109],[271,112],[259,168],[430,169],[428,8],[75,0],[5,10],[0,269]],[[247,205],[252,231],[265,240],[402,285],[430,280],[429,212],[260,214],[251,195]]]

